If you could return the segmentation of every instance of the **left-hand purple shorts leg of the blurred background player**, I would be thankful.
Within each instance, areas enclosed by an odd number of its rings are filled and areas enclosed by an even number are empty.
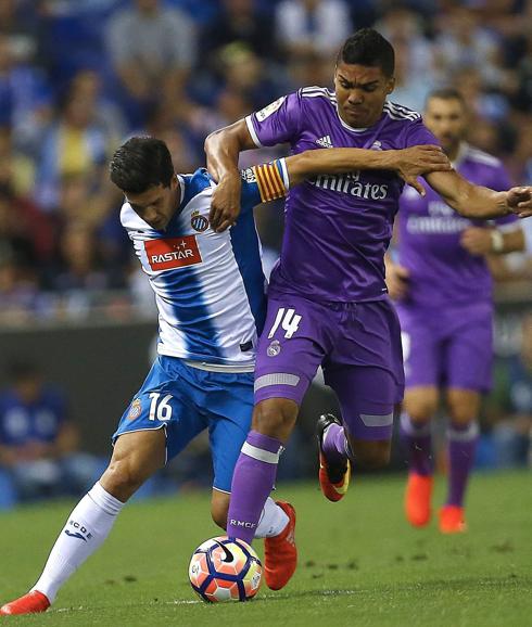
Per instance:
[[[443,344],[430,321],[398,308],[401,341],[405,369],[405,385],[409,387],[438,386],[443,370]]]

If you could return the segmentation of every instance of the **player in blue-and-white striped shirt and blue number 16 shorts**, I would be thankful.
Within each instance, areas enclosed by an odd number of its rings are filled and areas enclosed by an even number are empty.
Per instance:
[[[427,158],[426,151],[417,161]],[[239,223],[217,233],[208,223],[216,185],[206,170],[176,175],[166,144],[152,138],[132,138],[118,149],[111,179],[125,193],[121,220],[155,293],[159,357],[122,417],[109,468],[68,516],[37,584],[0,615],[46,611],[104,541],[125,502],[205,428],[214,465],[212,515],[225,528],[232,471],[251,425],[257,334],[266,314],[251,209],[282,197],[304,177],[394,167],[394,159],[403,163],[404,152],[321,150],[249,168],[241,172]],[[281,587],[273,553],[288,546],[295,560],[294,523],[289,503],[267,499],[252,529],[266,538],[265,577],[273,589]]]

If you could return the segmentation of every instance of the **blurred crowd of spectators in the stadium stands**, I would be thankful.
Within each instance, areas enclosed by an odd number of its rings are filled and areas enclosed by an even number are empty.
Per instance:
[[[397,52],[392,100],[422,110],[430,90],[457,87],[469,141],[532,184],[531,22],[531,0],[0,0],[0,325],[100,306],[111,318],[154,311],[110,155],[153,135],[177,171],[193,171],[211,131],[303,85],[330,86],[335,52],[359,27]],[[268,259],[278,208],[257,212]],[[532,257],[504,274],[532,281]],[[524,348],[508,376],[528,376],[530,392],[529,358]],[[527,407],[518,396],[502,404],[530,423],[530,395]]]

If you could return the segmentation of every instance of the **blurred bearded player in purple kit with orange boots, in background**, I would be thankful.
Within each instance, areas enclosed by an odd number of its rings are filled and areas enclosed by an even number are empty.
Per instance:
[[[464,177],[494,190],[509,187],[495,157],[464,141],[466,103],[455,89],[432,92],[425,124]],[[516,216],[478,223],[456,216],[434,191],[405,188],[397,218],[398,261],[387,260],[387,283],[403,331],[406,392],[401,436],[408,452],[405,513],[414,526],[431,515],[430,420],[440,388],[449,414],[448,494],[440,530],[465,530],[464,497],[478,440],[481,394],[491,387],[492,280],[485,255],[520,251]]]

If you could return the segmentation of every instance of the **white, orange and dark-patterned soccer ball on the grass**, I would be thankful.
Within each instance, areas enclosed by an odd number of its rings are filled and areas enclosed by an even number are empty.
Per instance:
[[[250,545],[219,536],[195,549],[189,577],[204,601],[248,601],[261,587],[263,565]]]

